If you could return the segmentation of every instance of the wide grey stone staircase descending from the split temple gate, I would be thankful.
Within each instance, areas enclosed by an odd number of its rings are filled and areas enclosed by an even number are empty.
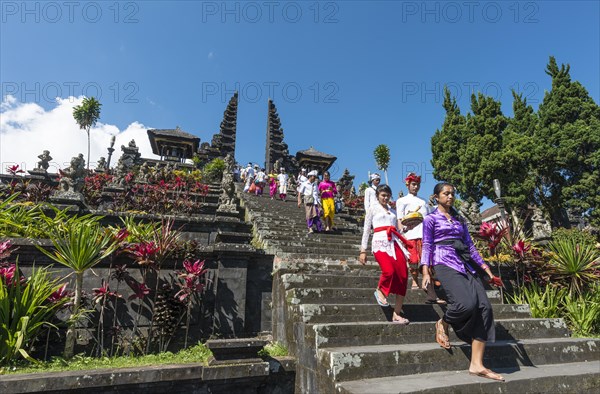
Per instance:
[[[591,393],[600,389],[600,339],[572,338],[561,319],[533,319],[527,305],[501,303],[489,289],[497,341],[484,362],[506,382],[470,376],[470,346],[451,330],[452,349],[435,342],[443,306],[409,290],[408,326],[390,322],[373,290],[379,267],[356,264],[360,230],[308,235],[295,201],[240,195],[255,240],[275,255],[273,337],[297,359],[296,393]],[[410,285],[410,284],[409,284]],[[440,294],[443,295],[443,294]],[[393,298],[390,302],[393,303]]]

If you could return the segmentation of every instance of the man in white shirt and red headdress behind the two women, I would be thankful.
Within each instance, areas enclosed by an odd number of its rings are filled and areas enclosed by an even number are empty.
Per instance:
[[[396,212],[398,218],[402,219],[404,216],[411,212],[419,212],[423,217],[427,216],[430,211],[430,207],[425,200],[417,196],[419,189],[421,189],[421,177],[414,172],[409,173],[404,179],[408,194],[396,201]],[[408,240],[407,249],[409,252],[408,264],[410,268],[410,274],[412,276],[412,288],[419,289],[419,262],[421,261],[421,249],[423,246],[423,223],[418,224],[416,227],[406,231],[404,238]],[[429,284],[427,289],[427,303],[429,304],[445,304],[445,301],[437,298],[433,284]]]

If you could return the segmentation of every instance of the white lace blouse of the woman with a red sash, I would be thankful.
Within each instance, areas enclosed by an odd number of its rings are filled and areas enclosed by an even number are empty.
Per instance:
[[[396,217],[396,211],[388,206],[388,210],[381,206],[379,202],[371,205],[365,216],[365,226],[363,228],[363,237],[360,245],[360,250],[367,250],[367,244],[369,243],[369,234],[372,228],[378,227],[389,227],[392,226],[398,230],[398,218]],[[396,259],[396,250],[394,248],[394,242],[398,243],[400,250],[404,253],[404,256],[408,260],[408,251],[406,247],[394,233],[391,234],[392,239],[388,240],[387,231],[377,231],[373,233],[373,240],[371,241],[371,251],[385,252],[388,255]]]

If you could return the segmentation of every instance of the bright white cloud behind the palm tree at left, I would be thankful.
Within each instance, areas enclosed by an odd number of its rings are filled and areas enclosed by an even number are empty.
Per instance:
[[[36,167],[37,156],[49,150],[53,160],[49,172],[68,167],[71,157],[83,153],[87,156],[87,135],[73,119],[73,107],[81,104],[83,97],[57,98],[56,107],[45,110],[36,103],[21,103],[6,96],[0,104],[0,172],[9,165],[19,164],[24,170]],[[157,159],[148,141],[147,129],[133,122],[125,130],[98,122],[90,130],[90,168],[96,168],[101,156],[107,157],[111,136],[116,136],[113,167],[121,156],[121,145],[132,139],[140,148],[142,157]],[[87,160],[87,157],[86,157]]]

